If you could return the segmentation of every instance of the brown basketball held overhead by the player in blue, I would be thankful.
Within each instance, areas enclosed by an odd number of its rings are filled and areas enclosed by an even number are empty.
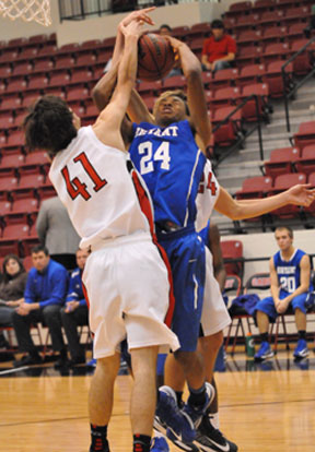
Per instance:
[[[163,36],[149,33],[138,44],[138,79],[152,82],[163,79],[174,64],[174,51]]]

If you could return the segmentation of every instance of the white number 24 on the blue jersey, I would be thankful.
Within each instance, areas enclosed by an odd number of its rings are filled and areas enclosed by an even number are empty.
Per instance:
[[[170,169],[170,143],[163,141],[162,144],[158,147],[153,156],[153,145],[150,141],[139,144],[139,154],[144,154],[140,160],[140,173],[141,175],[147,175],[154,170],[153,160],[161,160],[162,169]],[[153,160],[152,160],[153,157]]]

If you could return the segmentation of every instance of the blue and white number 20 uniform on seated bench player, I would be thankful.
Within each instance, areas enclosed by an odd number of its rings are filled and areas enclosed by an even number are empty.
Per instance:
[[[301,285],[301,269],[300,263],[303,255],[306,253],[300,249],[295,249],[289,261],[285,261],[281,254],[281,251],[278,251],[273,255],[273,265],[278,275],[278,284],[280,287],[279,298],[282,300],[288,297],[290,294],[296,290]],[[313,290],[313,285],[310,282],[308,290]],[[301,309],[302,312],[306,313],[305,300],[308,292],[298,295],[294,297],[290,304],[293,311],[295,309]],[[271,322],[275,322],[279,313],[276,310],[273,298],[267,297],[261,301],[258,301],[256,306],[256,311],[265,312]]]

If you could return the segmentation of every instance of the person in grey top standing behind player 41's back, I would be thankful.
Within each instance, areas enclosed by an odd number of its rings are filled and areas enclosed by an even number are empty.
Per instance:
[[[75,251],[80,237],[58,197],[43,201],[36,219],[36,230],[54,261],[61,263],[67,270],[75,269]]]

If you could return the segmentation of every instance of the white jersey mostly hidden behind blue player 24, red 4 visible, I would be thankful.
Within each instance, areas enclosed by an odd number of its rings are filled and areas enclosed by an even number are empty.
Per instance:
[[[207,226],[210,215],[214,209],[219,191],[219,182],[213,175],[210,160],[207,159],[203,168],[202,180],[199,185],[199,192],[196,199],[197,218],[195,227],[198,233]]]

